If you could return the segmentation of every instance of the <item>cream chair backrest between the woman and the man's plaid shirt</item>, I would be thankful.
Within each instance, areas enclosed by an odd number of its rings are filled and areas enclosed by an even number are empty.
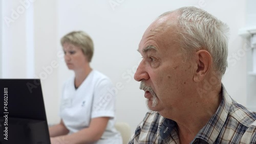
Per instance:
[[[125,122],[118,122],[115,124],[115,127],[121,133],[123,144],[127,144],[132,136],[130,125]]]

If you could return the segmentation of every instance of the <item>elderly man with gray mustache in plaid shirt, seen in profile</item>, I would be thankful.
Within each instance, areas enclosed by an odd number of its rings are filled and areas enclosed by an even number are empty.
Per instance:
[[[256,143],[256,113],[232,100],[221,83],[228,27],[184,7],[145,31],[135,73],[147,112],[129,143]]]

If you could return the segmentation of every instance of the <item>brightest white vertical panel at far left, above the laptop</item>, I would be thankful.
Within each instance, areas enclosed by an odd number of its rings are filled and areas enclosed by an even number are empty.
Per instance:
[[[3,39],[2,39],[2,77],[3,78],[25,78],[26,69],[26,14],[18,1],[3,1],[3,18],[10,18],[14,22],[3,21]],[[13,11],[15,12],[13,12]],[[25,10],[25,9],[24,9]],[[11,18],[13,17],[13,18]],[[8,19],[9,21],[9,19]]]

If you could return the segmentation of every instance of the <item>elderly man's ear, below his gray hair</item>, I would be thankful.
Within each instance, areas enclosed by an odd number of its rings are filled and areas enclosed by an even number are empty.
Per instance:
[[[194,81],[202,81],[209,73],[212,66],[212,59],[209,52],[205,50],[199,50],[195,54],[196,59],[196,71],[194,75]]]

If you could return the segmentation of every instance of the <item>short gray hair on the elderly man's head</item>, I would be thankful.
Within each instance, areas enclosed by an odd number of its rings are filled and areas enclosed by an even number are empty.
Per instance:
[[[220,78],[225,74],[228,55],[228,26],[215,16],[196,7],[183,7],[165,12],[178,15],[177,41],[185,60],[198,50],[206,50]]]

